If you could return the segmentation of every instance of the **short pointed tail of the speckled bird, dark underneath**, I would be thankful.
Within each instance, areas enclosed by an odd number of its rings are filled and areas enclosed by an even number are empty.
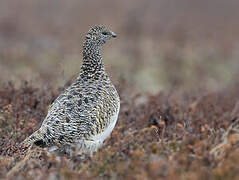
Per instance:
[[[42,133],[40,130],[34,132],[32,135],[27,137],[22,143],[23,146],[30,146],[32,144],[35,144],[37,146],[46,146],[46,143],[43,139]]]

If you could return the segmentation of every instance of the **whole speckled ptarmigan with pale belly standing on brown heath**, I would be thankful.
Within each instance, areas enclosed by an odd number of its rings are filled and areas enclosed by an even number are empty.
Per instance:
[[[50,105],[41,127],[22,145],[47,147],[77,155],[97,151],[118,119],[120,98],[105,71],[101,49],[117,35],[102,25],[88,31],[83,41],[80,73]]]

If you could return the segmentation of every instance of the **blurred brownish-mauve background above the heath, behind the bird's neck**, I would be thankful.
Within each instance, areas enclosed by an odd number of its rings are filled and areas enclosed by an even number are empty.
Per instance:
[[[76,77],[96,24],[118,35],[107,72],[134,92],[238,83],[238,0],[0,1],[0,82],[59,88]]]

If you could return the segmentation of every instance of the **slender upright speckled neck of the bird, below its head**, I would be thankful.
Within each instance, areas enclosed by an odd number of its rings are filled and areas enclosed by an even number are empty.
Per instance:
[[[83,45],[82,75],[92,77],[96,73],[104,72],[104,65],[100,54],[100,46],[85,41]]]

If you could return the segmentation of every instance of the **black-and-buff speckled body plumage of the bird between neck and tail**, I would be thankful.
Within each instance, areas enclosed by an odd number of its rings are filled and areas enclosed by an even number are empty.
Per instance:
[[[115,124],[118,111],[119,96],[107,75],[98,81],[78,78],[53,102],[41,128],[47,143],[94,140]]]

